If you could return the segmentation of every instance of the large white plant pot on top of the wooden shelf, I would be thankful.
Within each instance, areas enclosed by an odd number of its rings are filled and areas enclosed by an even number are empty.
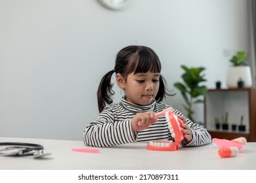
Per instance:
[[[244,81],[244,88],[251,88],[253,84],[251,68],[248,65],[229,67],[226,81],[228,88],[238,88],[238,81],[240,79]]]

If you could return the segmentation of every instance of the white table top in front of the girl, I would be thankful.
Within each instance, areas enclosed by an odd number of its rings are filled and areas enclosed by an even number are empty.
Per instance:
[[[43,159],[31,156],[0,156],[1,170],[218,170],[256,169],[256,142],[247,142],[238,156],[221,158],[213,144],[181,147],[173,152],[146,150],[146,144],[123,144],[96,148],[100,153],[73,152],[87,147],[82,141],[19,139],[0,137],[0,142],[42,144],[52,155]],[[0,149],[4,148],[0,146]],[[95,149],[95,148],[94,148]]]

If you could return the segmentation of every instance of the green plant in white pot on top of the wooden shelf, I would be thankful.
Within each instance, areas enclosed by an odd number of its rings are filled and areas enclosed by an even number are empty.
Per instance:
[[[230,59],[231,66],[228,68],[227,86],[228,88],[238,88],[238,82],[244,81],[244,87],[252,86],[251,68],[247,63],[246,52],[238,51]]]

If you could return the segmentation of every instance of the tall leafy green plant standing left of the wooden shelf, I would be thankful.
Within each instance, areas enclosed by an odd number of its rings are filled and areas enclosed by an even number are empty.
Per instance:
[[[184,70],[184,73],[181,76],[183,83],[176,82],[174,86],[181,92],[181,95],[185,101],[183,107],[188,113],[188,118],[190,118],[190,120],[193,122],[196,122],[193,118],[194,110],[192,109],[192,105],[195,103],[203,103],[203,96],[207,92],[207,87],[205,85],[200,85],[202,82],[206,81],[204,78],[205,75],[202,74],[202,71],[204,71],[205,68],[188,68],[185,65],[181,65],[181,68]]]

